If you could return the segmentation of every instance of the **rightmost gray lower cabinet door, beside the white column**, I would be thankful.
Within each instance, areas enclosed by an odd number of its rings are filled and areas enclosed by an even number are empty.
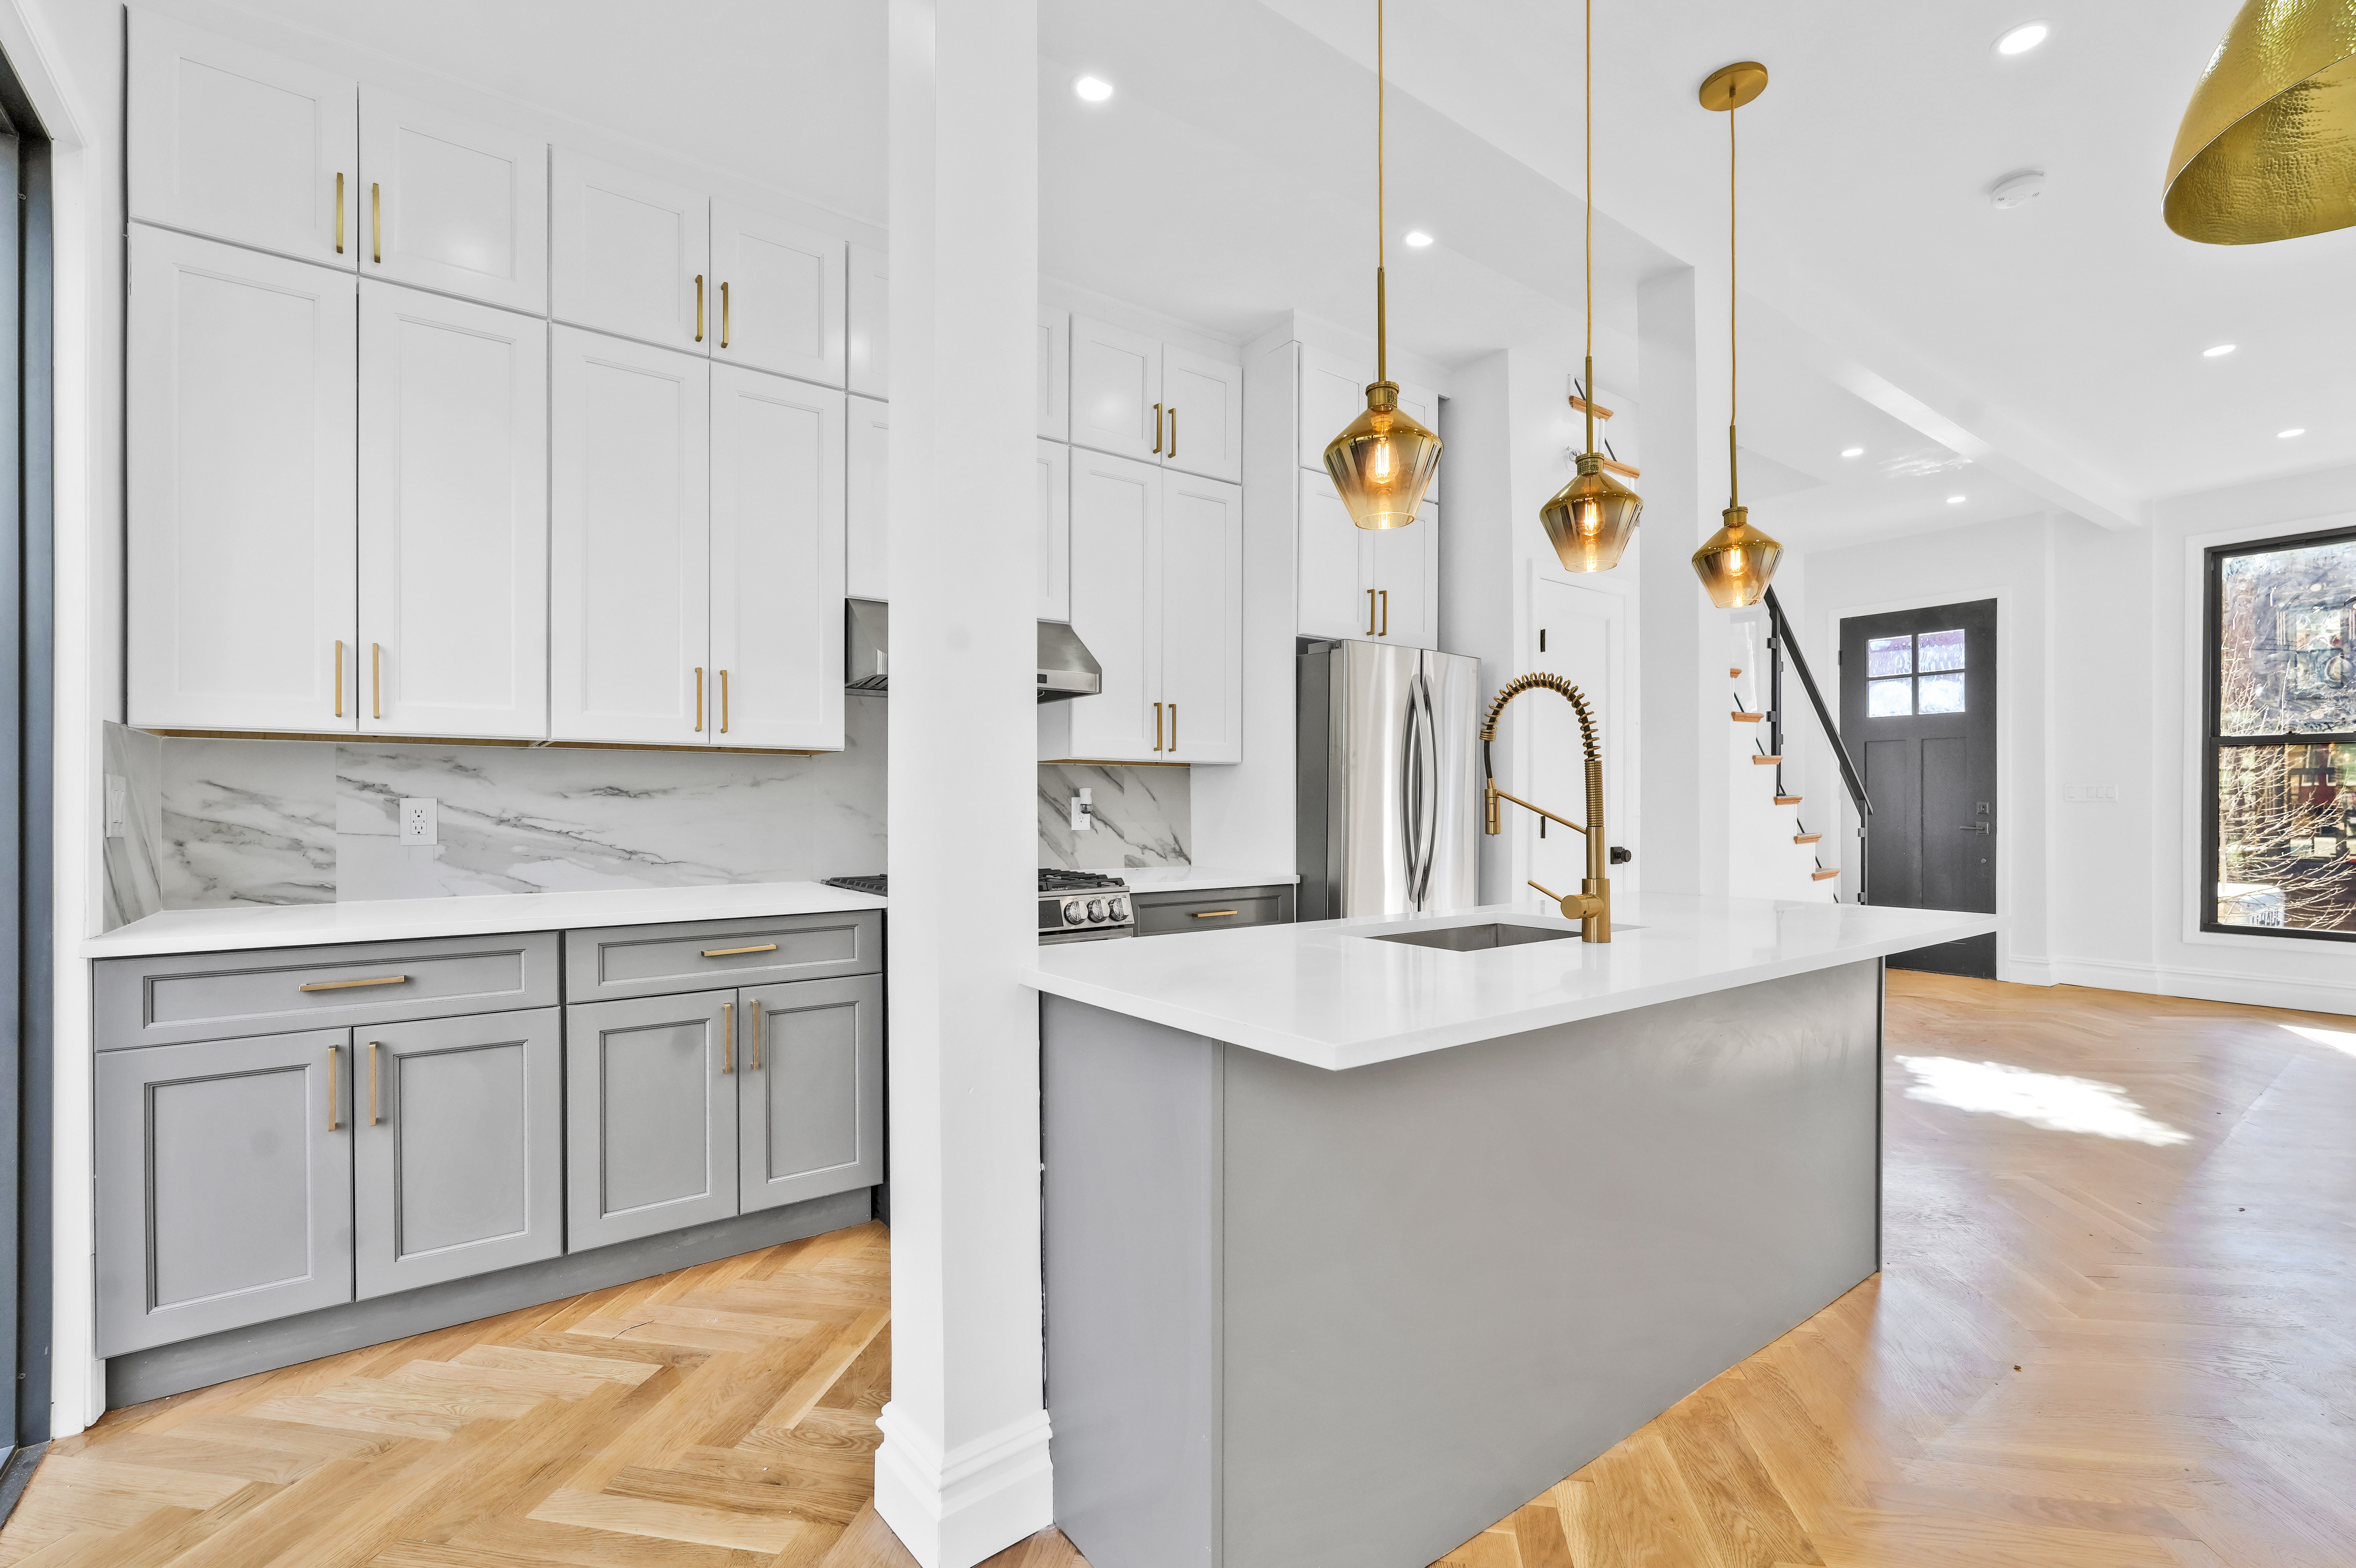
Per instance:
[[[742,1208],[884,1180],[884,977],[747,986]]]

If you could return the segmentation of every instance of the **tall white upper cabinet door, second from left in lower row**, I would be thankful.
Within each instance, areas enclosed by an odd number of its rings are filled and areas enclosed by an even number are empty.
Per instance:
[[[549,732],[549,327],[360,283],[360,727]]]

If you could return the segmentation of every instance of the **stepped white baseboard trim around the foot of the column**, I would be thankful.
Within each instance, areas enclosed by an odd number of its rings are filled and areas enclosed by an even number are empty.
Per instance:
[[[942,1453],[884,1406],[876,1415],[876,1514],[924,1568],[973,1568],[1055,1523],[1046,1410]]]

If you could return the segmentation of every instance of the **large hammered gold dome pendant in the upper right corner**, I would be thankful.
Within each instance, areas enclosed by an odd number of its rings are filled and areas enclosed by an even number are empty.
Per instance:
[[[2184,108],[2160,212],[2205,245],[2356,224],[2356,2],[2241,7]]]

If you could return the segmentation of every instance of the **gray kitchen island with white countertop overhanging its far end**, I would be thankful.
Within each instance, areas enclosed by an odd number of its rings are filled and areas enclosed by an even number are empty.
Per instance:
[[[1503,1519],[1880,1267],[1882,958],[1996,928],[1637,895],[1609,944],[1041,949],[1058,1523],[1421,1568]]]

